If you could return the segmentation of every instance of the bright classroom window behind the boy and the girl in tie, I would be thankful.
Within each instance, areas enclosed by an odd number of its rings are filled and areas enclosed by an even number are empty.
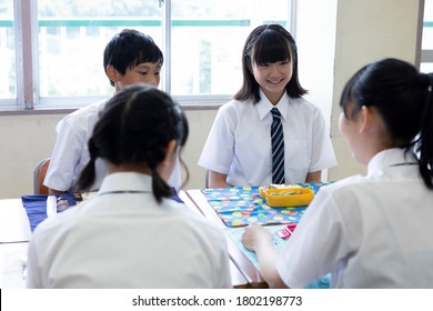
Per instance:
[[[72,108],[110,97],[102,52],[124,28],[150,34],[163,50],[161,89],[181,103],[223,102],[241,86],[241,50],[250,31],[269,22],[292,26],[290,0],[3,2],[0,106],[16,109]],[[22,27],[17,36],[16,23]],[[14,47],[20,40],[23,47]],[[23,52],[22,66],[16,64],[19,49],[31,51]]]

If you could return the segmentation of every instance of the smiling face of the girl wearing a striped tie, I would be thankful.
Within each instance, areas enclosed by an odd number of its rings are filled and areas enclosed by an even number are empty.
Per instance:
[[[292,79],[293,64],[288,60],[264,64],[253,62],[252,74],[271,103],[276,104]]]

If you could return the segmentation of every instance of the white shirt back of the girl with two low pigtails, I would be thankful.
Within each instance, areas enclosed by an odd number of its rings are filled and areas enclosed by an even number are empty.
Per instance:
[[[151,182],[109,174],[97,197],[41,222],[30,241],[28,288],[231,288],[221,229],[183,203],[157,203]]]

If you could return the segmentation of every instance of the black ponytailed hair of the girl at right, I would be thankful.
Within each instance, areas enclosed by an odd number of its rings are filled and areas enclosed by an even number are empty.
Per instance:
[[[384,120],[393,148],[419,154],[420,173],[433,189],[433,73],[387,58],[361,68],[345,84],[340,107],[353,119],[374,107]]]

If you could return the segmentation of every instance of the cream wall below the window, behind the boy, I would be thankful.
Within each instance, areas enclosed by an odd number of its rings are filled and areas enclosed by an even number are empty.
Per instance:
[[[204,187],[204,169],[197,165],[216,110],[188,110],[190,138],[182,159],[190,171],[187,188]],[[56,124],[63,114],[0,116],[0,199],[33,193],[33,170],[51,154]]]

